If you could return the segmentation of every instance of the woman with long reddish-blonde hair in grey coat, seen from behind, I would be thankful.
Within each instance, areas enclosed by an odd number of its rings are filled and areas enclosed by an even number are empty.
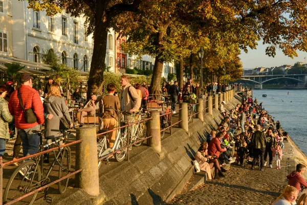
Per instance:
[[[43,112],[45,116],[45,129],[47,129],[46,136],[58,136],[59,132],[51,131],[58,130],[60,127],[60,118],[65,116],[70,124],[70,128],[73,127],[68,107],[65,104],[65,100],[62,98],[59,85],[52,84],[48,90],[48,96],[43,100]],[[49,144],[52,139],[48,139],[46,144]],[[62,141],[60,141],[60,145]],[[45,154],[45,163],[49,163],[49,153]]]

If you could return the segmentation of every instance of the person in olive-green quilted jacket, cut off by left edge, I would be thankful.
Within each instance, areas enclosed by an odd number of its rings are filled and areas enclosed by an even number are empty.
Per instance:
[[[0,86],[0,156],[3,156],[6,150],[6,140],[10,139],[9,122],[13,121],[8,107],[8,102],[4,99],[7,94],[5,86]]]

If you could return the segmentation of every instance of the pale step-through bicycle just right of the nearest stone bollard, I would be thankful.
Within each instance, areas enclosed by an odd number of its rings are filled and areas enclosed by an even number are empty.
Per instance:
[[[116,110],[116,109],[114,109],[112,107],[111,108],[104,108],[104,109],[113,109],[113,110],[115,110],[117,112],[117,114],[118,114],[118,122],[119,122],[119,126],[120,126],[120,124],[121,124],[120,114],[125,112],[125,111],[119,111],[119,110]],[[103,129],[100,132],[106,132],[107,130],[108,129]],[[123,137],[123,135],[121,133],[121,130],[120,129],[118,130],[118,133],[116,135],[116,139],[115,139],[113,148],[108,148],[107,147],[108,141],[107,141],[107,136],[106,135],[108,135],[108,133],[102,135],[102,137],[97,138],[98,159],[100,159],[100,158],[102,158],[104,156],[107,156],[107,155],[111,154],[114,151],[120,150],[120,151],[115,153],[115,159],[118,162],[124,160],[124,158],[126,156],[126,153],[127,153],[127,148],[125,148],[125,149],[122,149],[122,148],[127,146],[127,139],[125,137]],[[108,161],[112,157],[113,157],[112,155],[107,156],[105,158],[105,160]],[[101,160],[98,161],[98,169],[100,168],[100,166],[101,166]]]

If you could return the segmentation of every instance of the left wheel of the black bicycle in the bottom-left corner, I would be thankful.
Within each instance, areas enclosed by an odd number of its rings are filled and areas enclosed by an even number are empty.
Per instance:
[[[4,203],[13,201],[24,196],[40,186],[40,167],[33,160],[25,161],[13,172],[3,194]],[[23,175],[21,175],[23,173]],[[32,183],[31,180],[33,179]],[[37,192],[27,196],[14,204],[32,204],[35,201]]]

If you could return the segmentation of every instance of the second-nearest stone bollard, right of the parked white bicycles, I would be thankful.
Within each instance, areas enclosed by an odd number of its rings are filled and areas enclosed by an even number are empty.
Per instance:
[[[152,136],[147,139],[147,145],[152,147],[156,152],[161,152],[161,126],[160,112],[157,110],[150,111],[150,117],[147,124],[147,136]]]

